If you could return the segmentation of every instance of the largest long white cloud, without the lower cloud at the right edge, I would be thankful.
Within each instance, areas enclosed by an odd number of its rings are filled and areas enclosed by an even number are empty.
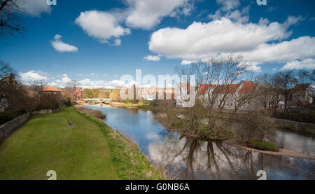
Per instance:
[[[154,32],[149,49],[167,57],[204,59],[219,53],[253,50],[262,43],[290,36],[278,22],[241,24],[228,18],[208,23],[193,22],[186,29],[167,27]]]

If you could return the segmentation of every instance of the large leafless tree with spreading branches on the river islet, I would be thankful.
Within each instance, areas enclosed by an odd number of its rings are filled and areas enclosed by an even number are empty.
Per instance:
[[[225,58],[211,58],[176,69],[178,74],[196,76],[196,103],[184,113],[183,119],[189,120],[186,126],[198,132],[202,128],[205,116],[208,119],[208,130],[212,132],[217,127],[216,120],[219,114],[232,96],[230,90],[234,89],[233,84],[239,81],[249,67],[251,64],[245,62],[241,56],[231,55]],[[203,85],[207,85],[209,89],[200,92],[204,90]]]

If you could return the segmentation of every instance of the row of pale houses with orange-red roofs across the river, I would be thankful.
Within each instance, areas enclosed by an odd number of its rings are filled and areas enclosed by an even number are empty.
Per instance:
[[[189,92],[190,85],[183,84]],[[214,108],[222,106],[228,110],[251,110],[264,109],[266,106],[271,107],[272,102],[263,102],[262,95],[274,95],[273,91],[268,94],[262,94],[263,85],[261,83],[253,83],[252,81],[241,81],[240,83],[230,85],[209,85],[200,84],[196,87],[197,96],[206,106],[209,100],[209,94],[215,95]],[[183,106],[183,100],[176,99],[176,89],[174,88],[136,88],[134,90],[134,97],[141,96],[155,106]],[[310,84],[297,84],[288,93],[288,106],[290,108],[297,108],[297,104],[311,104],[314,98],[314,90]],[[224,100],[223,100],[224,99]],[[270,100],[266,98],[265,101]],[[272,108],[283,110],[285,106],[284,95],[279,95],[276,104],[272,104]]]

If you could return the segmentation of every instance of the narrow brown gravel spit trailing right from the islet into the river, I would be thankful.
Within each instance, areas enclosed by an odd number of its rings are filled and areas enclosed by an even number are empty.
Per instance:
[[[270,154],[270,155],[284,155],[284,156],[291,156],[291,157],[297,157],[297,158],[309,158],[309,159],[315,160],[314,156],[306,155],[304,153],[300,153],[300,152],[292,151],[292,150],[288,150],[288,149],[283,149],[283,148],[279,148],[279,152],[275,152],[275,151],[261,151],[261,150],[258,150],[258,149],[248,148],[246,146],[241,146],[239,144],[235,144],[235,143],[232,143],[230,141],[223,141],[223,143],[228,144],[230,146],[235,146],[237,148],[243,148],[243,149],[248,150],[248,151],[256,151],[256,152],[266,153],[266,154]]]

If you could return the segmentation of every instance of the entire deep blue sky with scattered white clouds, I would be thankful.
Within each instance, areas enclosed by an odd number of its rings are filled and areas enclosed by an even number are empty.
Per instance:
[[[173,75],[228,55],[242,55],[255,74],[315,69],[314,0],[26,1],[25,32],[0,39],[0,59],[25,84],[114,88],[136,69]]]

